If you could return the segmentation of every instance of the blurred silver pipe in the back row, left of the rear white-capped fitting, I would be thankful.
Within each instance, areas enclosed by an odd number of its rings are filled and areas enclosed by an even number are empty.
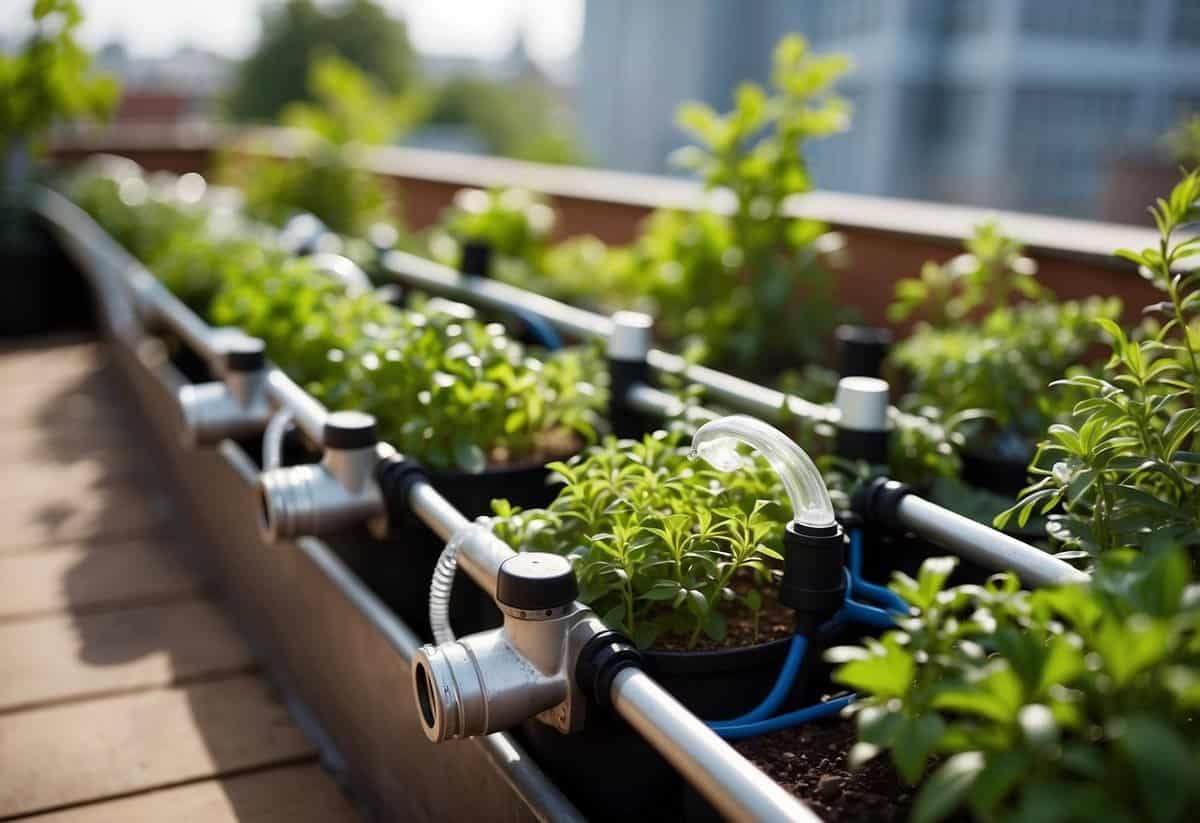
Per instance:
[[[492,310],[533,312],[575,337],[607,340],[612,332],[608,318],[594,312],[568,306],[499,281],[463,275],[450,266],[416,254],[388,252],[382,265],[384,271],[410,286],[439,292],[456,300],[473,301]]]

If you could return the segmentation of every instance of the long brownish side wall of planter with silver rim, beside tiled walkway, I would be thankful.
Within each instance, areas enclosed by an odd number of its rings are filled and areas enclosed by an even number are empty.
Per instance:
[[[384,819],[580,819],[506,734],[426,740],[412,693],[418,637],[329,543],[259,539],[257,464],[229,440],[216,450],[180,445],[174,396],[186,380],[162,346],[136,331],[120,283],[122,252],[70,204],[52,206],[52,229],[92,284],[102,335],[196,535],[196,561],[215,575],[326,765]],[[404,561],[403,545],[366,548]]]

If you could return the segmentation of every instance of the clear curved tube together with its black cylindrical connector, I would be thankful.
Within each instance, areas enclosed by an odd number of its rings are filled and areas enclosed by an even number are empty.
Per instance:
[[[796,611],[798,631],[811,631],[846,599],[846,537],[834,517],[829,489],[812,458],[791,438],[744,414],[701,426],[692,437],[692,456],[721,471],[737,471],[744,465],[738,443],[761,453],[784,483],[792,519],[784,528],[779,601]]]

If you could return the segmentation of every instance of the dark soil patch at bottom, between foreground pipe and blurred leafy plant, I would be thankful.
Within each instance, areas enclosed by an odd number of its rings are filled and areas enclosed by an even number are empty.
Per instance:
[[[830,719],[743,740],[734,747],[823,819],[839,823],[907,819],[912,787],[883,756],[850,771],[846,755],[853,745],[854,723]]]

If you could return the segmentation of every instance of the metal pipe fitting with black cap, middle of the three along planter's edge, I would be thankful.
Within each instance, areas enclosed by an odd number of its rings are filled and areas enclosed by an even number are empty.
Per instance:
[[[376,464],[386,456],[376,437],[374,417],[334,412],[323,434],[319,463],[269,469],[259,476],[259,531],[275,542],[317,536],[367,522],[376,535],[386,530]]]

